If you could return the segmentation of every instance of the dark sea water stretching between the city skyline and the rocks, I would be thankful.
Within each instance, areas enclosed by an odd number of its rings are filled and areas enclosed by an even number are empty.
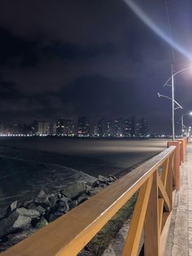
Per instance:
[[[0,138],[0,214],[41,188],[57,191],[82,172],[121,175],[166,148],[165,140]]]

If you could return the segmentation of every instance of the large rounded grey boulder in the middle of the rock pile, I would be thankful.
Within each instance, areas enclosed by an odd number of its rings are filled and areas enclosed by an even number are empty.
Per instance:
[[[65,188],[63,188],[62,194],[64,196],[74,199],[85,192],[86,192],[85,183],[76,181],[68,184]]]

